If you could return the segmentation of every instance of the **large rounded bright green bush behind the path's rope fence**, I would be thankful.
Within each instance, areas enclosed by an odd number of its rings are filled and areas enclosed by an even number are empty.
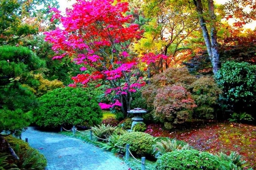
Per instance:
[[[39,126],[86,125],[101,123],[102,111],[96,100],[82,88],[59,88],[39,98],[34,113]]]

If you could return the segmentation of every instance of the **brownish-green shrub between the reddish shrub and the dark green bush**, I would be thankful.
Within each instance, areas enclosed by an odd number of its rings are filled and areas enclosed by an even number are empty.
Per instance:
[[[192,83],[192,97],[197,107],[194,109],[195,118],[213,119],[218,106],[217,100],[221,90],[213,78],[203,76]]]

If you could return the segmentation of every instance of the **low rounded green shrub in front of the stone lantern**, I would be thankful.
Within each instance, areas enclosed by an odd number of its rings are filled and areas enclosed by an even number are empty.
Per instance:
[[[123,134],[117,142],[119,147],[126,147],[126,144],[130,144],[130,151],[134,156],[152,157],[155,139],[144,132],[129,132]],[[125,150],[121,149],[121,152],[123,151]]]

